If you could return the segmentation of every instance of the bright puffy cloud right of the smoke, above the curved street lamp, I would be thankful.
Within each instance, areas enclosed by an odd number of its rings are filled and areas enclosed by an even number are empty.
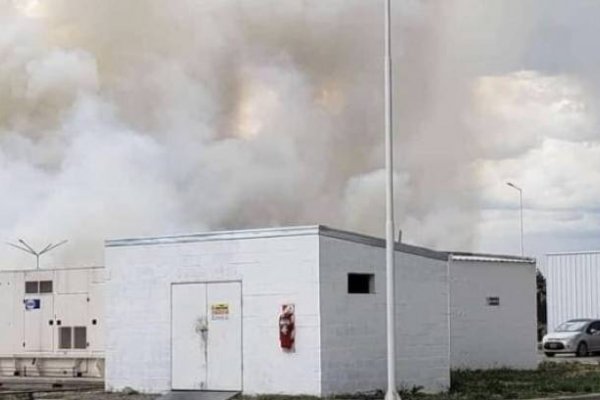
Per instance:
[[[472,129],[486,157],[518,157],[547,138],[597,138],[591,94],[576,77],[519,71],[481,77],[473,91]]]

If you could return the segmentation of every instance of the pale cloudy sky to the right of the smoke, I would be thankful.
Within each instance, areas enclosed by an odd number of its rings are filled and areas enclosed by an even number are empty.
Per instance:
[[[518,193],[502,186],[510,180],[523,188],[527,252],[598,250],[600,3],[532,4],[522,56],[479,83],[485,125],[497,131],[489,145],[506,150],[479,165],[480,246],[518,246]]]

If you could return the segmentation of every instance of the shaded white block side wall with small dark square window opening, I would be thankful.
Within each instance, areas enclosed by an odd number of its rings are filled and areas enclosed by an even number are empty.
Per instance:
[[[385,250],[321,237],[323,394],[385,389]],[[449,387],[446,261],[396,252],[397,383]],[[374,273],[374,294],[348,294],[348,273]]]

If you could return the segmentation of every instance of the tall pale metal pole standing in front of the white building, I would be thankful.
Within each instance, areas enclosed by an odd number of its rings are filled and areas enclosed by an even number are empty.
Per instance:
[[[386,168],[386,324],[388,387],[385,400],[399,400],[396,390],[396,315],[394,296],[394,161],[392,142],[392,17],[391,0],[385,0],[385,168]]]

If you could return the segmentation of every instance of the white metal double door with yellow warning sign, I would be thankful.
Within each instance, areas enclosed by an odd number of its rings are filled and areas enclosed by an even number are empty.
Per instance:
[[[241,390],[240,282],[173,284],[171,296],[172,388]]]

